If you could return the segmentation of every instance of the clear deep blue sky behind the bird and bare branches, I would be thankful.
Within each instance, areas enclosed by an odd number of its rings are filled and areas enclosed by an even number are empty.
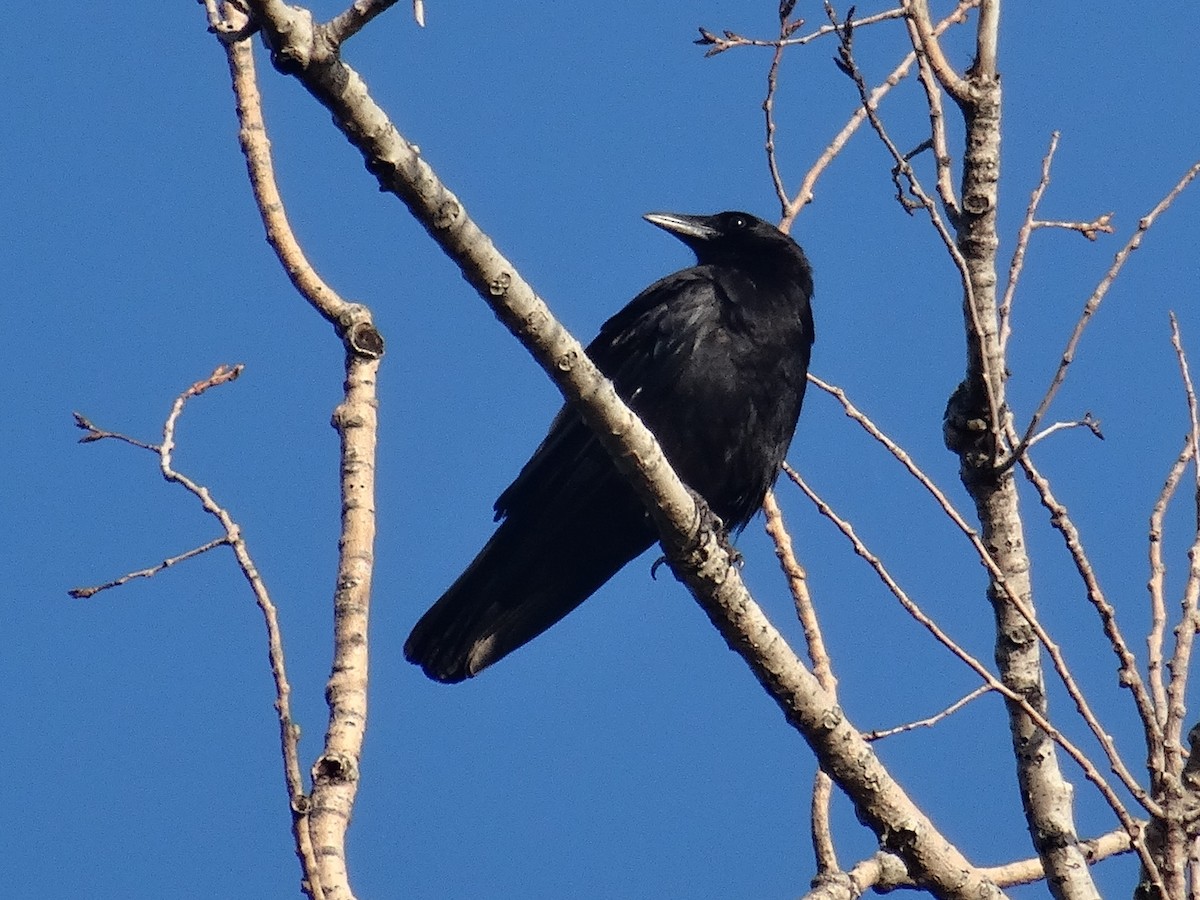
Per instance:
[[[293,294],[263,240],[238,154],[223,56],[202,8],[14,6],[0,67],[0,272],[7,302],[11,473],[0,709],[11,830],[0,881],[19,898],[298,895],[260,618],[227,553],[73,601],[70,587],[150,565],[216,535],[144,451],[80,446],[71,412],[157,440],[174,396],[221,362],[234,385],[193,402],[180,468],[241,522],[281,610],[305,728],[325,724],[337,527],[341,349]],[[944,6],[942,4],[941,6]],[[1037,404],[1084,300],[1138,217],[1200,157],[1200,25],[1064,0],[1009,5],[1002,258],[1052,130],[1050,218],[1112,210],[1088,244],[1040,232],[1016,301],[1018,420]],[[774,34],[774,2],[403,5],[347,48],[397,127],[582,340],[686,250],[650,210],[775,216],[762,152],[769,55],[704,59],[696,26]],[[871,7],[874,10],[875,7]],[[340,6],[322,2],[328,17]],[[863,11],[871,11],[863,7]],[[802,0],[797,13],[821,19]],[[965,32],[964,32],[965,34]],[[878,80],[899,24],[864,30]],[[959,65],[966,44],[952,42]],[[790,52],[778,100],[793,187],[853,110],[830,42]],[[635,562],[566,622],[484,677],[432,684],[401,646],[491,530],[491,504],[558,407],[553,388],[293,82],[259,54],[281,188],[300,240],[388,338],[380,376],[378,568],[371,724],[349,847],[362,898],[794,896],[812,864],[810,755],[684,589]],[[919,91],[883,107],[893,137],[925,136]],[[919,217],[890,199],[890,163],[858,136],[794,234],[816,270],[814,371],[835,382],[970,504],[941,445],[962,373],[954,272]],[[1148,235],[1092,324],[1051,413],[1102,419],[1106,440],[1056,436],[1037,460],[1093,553],[1130,642],[1146,622],[1146,517],[1187,412],[1168,311],[1200,365],[1200,194]],[[983,570],[946,518],[832,400],[811,394],[791,461],[960,642],[990,659]],[[842,702],[864,728],[941,709],[976,682],[898,610],[845,541],[784,487],[781,503],[823,617]],[[1025,498],[1036,599],[1132,764],[1128,697],[1061,541]],[[1169,520],[1177,594],[1194,512]],[[791,601],[757,524],[745,577],[792,637]],[[1174,594],[1172,594],[1174,595]],[[1057,721],[1082,732],[1061,691]],[[1028,853],[985,698],[880,752],[967,854]],[[1081,737],[1081,740],[1086,738]],[[1088,745],[1091,746],[1091,745]],[[1076,770],[1080,829],[1111,816]],[[870,835],[836,804],[847,864]],[[1103,869],[1127,893],[1128,862]],[[1014,892],[1043,896],[1040,887]]]

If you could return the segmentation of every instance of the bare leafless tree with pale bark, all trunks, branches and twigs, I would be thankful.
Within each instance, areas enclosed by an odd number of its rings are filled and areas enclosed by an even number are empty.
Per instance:
[[[697,43],[706,47],[709,55],[757,52],[754,48],[770,54],[763,102],[766,151],[767,169],[780,204],[781,228],[791,228],[811,200],[814,186],[828,166],[846,143],[862,132],[856,139],[874,139],[886,146],[894,163],[892,178],[896,202],[928,221],[958,272],[958,284],[947,286],[947,292],[956,292],[962,301],[966,374],[949,398],[944,439],[947,448],[958,455],[961,481],[973,502],[973,510],[956,509],[950,492],[936,485],[846,391],[818,377],[811,380],[817,389],[832,395],[864,433],[878,442],[928,491],[961,533],[966,552],[982,563],[986,574],[982,587],[995,611],[995,666],[968,653],[922,611],[851,522],[822,499],[799,472],[791,467],[785,469],[785,484],[794,484],[811,499],[904,608],[978,679],[974,690],[936,715],[887,732],[864,733],[852,722],[853,709],[844,710],[839,700],[834,662],[822,641],[816,606],[809,595],[804,570],[792,552],[775,498],[768,496],[766,503],[768,530],[776,544],[804,626],[809,664],[788,646],[746,590],[721,535],[697,514],[692,497],[666,464],[654,437],[622,403],[588,360],[580,342],[558,323],[516,266],[475,224],[462,202],[401,134],[374,102],[358,72],[343,59],[347,42],[394,4],[395,0],[356,0],[341,14],[320,23],[308,10],[281,0],[238,0],[223,5],[205,0],[208,25],[228,56],[238,100],[241,146],[269,241],[296,292],[334,326],[346,348],[346,396],[335,415],[342,437],[343,526],[338,588],[334,598],[337,649],[328,689],[330,718],[325,745],[312,766],[310,779],[302,774],[298,730],[289,712],[290,688],[282,640],[266,586],[233,517],[204,486],[173,466],[175,422],[186,401],[236,378],[240,370],[222,367],[181,395],[166,424],[161,444],[137,442],[77,416],[77,424],[86,431],[84,440],[121,439],[155,452],[162,474],[191,491],[222,528],[218,539],[161,566],[131,572],[107,584],[80,588],[77,595],[91,595],[131,577],[154,575],[162,568],[226,545],[233,548],[246,575],[266,623],[288,804],[305,892],[314,900],[352,896],[346,828],[359,788],[358,761],[367,722],[367,617],[376,528],[376,382],[384,347],[371,311],[342,300],[316,274],[292,235],[271,169],[254,70],[254,35],[265,40],[275,67],[298,79],[314,101],[332,114],[336,127],[362,154],[379,186],[404,203],[568,401],[583,413],[652,511],[672,570],[728,646],[742,655],[763,690],[779,704],[787,722],[808,742],[821,769],[812,802],[812,841],[818,869],[808,896],[851,898],[869,888],[912,887],[940,898],[976,899],[1001,896],[1009,886],[1044,880],[1056,898],[1098,898],[1092,865],[1117,853],[1138,854],[1142,872],[1139,896],[1172,900],[1189,896],[1194,890],[1192,880],[1200,872],[1196,865],[1200,860],[1195,858],[1200,846],[1196,794],[1200,761],[1189,751],[1189,746],[1194,749],[1192,733],[1184,734],[1192,726],[1187,712],[1188,668],[1193,635],[1200,626],[1200,562],[1196,562],[1200,560],[1200,528],[1189,554],[1193,563],[1184,595],[1174,614],[1169,612],[1165,595],[1160,540],[1168,505],[1189,467],[1196,470],[1196,448],[1200,446],[1200,412],[1178,329],[1174,330],[1174,346],[1190,412],[1190,433],[1153,506],[1148,542],[1153,619],[1144,655],[1133,649],[1118,625],[1076,526],[1056,498],[1049,478],[1038,468],[1033,450],[1064,428],[1082,427],[1099,434],[1099,426],[1090,415],[1074,421],[1050,421],[1054,400],[1070,371],[1088,322],[1126,260],[1158,217],[1200,174],[1200,163],[1182,173],[1164,197],[1147,200],[1148,211],[1126,238],[1111,268],[1086,300],[1073,332],[1066,337],[1061,364],[1040,403],[1032,413],[1021,414],[1007,400],[1007,350],[1026,250],[1039,229],[1068,229],[1096,240],[1099,234],[1112,234],[1114,223],[1106,214],[1080,221],[1039,217],[1058,143],[1055,134],[1016,235],[1015,253],[1007,265],[998,258],[1000,139],[1004,109],[997,47],[1001,0],[961,0],[941,17],[930,11],[928,0],[902,0],[895,8],[865,16],[827,4],[824,20],[817,25],[796,18],[793,0],[784,0],[779,8],[779,31],[769,37],[746,37],[732,30],[700,30]],[[413,11],[421,22],[424,5],[420,0],[414,2]],[[1018,10],[1014,14],[1024,14],[1024,11]],[[856,59],[854,37],[859,30],[887,20],[904,23],[908,46],[898,48],[895,70],[872,85]],[[942,49],[943,34],[955,28],[970,29],[974,35],[974,59],[965,71],[956,68]],[[791,190],[775,148],[774,101],[780,61],[785,53],[798,53],[817,42],[836,47],[840,77],[848,79],[846,84],[857,91],[860,106],[818,155],[799,187]],[[892,88],[912,73],[923,89],[929,131],[919,146],[908,149],[899,146],[890,137],[882,104]],[[952,127],[954,120],[959,121]],[[952,134],[956,127],[961,127],[964,136],[961,148],[953,145]],[[1026,524],[1018,502],[1021,475],[1032,485],[1054,528],[1061,533],[1066,552],[1094,608],[1094,626],[1103,631],[1112,648],[1122,685],[1128,690],[1132,709],[1145,736],[1145,767],[1122,758],[1110,736],[1112,726],[1092,709],[1060,644],[1038,619],[1030,580]],[[1200,491],[1200,474],[1195,478]],[[1046,679],[1062,684],[1074,709],[1050,708]],[[965,704],[991,692],[1003,697],[1008,712],[1013,761],[1033,847],[1028,859],[985,869],[972,863],[938,830],[926,811],[888,772],[874,743],[896,731],[936,726]],[[1081,716],[1094,737],[1098,752],[1080,746],[1056,725],[1068,715]],[[1110,806],[1114,827],[1109,833],[1079,834],[1073,790],[1060,764],[1063,755],[1082,770]],[[859,820],[877,839],[878,851],[869,858],[851,864],[838,859],[828,816],[834,785],[848,797]]]

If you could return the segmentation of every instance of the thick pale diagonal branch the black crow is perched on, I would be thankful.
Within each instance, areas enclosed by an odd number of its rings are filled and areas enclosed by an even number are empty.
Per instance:
[[[401,137],[359,74],[330,50],[312,16],[282,0],[251,0],[250,6],[276,66],[298,78],[330,110],[380,185],[406,203],[568,402],[580,409],[647,503],[677,576],[751,667],[787,721],[804,734],[830,776],[852,798],[862,820],[884,846],[905,857],[920,883],[938,894],[1000,896],[994,886],[973,875],[973,866],[887,773],[835,698],[763,616],[653,436],[620,402],[578,341],[472,221],[461,200]]]

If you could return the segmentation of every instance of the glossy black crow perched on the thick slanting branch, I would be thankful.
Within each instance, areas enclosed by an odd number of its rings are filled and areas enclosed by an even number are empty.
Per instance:
[[[655,282],[588,355],[726,527],[740,530],[779,474],[804,400],[812,270],[746,212],[650,214],[697,264]],[[496,534],[421,617],[404,656],[470,678],[587,600],[656,532],[580,414],[565,406],[496,500]]]

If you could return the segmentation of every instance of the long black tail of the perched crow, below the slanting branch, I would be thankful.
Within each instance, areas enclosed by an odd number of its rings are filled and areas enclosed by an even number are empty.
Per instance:
[[[644,551],[652,533],[580,534],[566,524],[529,541],[504,521],[413,628],[404,658],[437,682],[462,682],[528,643]]]

